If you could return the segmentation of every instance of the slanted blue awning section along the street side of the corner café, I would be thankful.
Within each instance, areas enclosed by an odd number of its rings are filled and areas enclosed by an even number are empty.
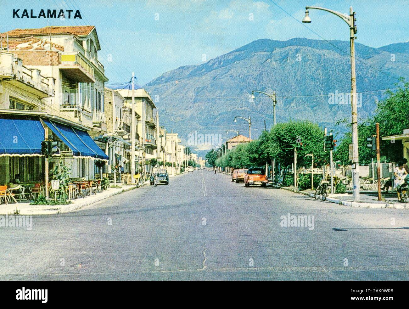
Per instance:
[[[44,122],[71,149],[73,156],[109,160],[86,131],[48,119],[44,119]]]

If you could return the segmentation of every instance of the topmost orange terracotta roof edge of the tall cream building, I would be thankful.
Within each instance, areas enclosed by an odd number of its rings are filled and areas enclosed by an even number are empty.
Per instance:
[[[9,37],[24,37],[24,36],[36,36],[43,34],[74,34],[76,36],[85,36],[90,34],[90,32],[95,28],[95,26],[48,26],[43,28],[35,29],[13,29],[8,32],[4,32],[2,35],[5,36],[7,33]]]

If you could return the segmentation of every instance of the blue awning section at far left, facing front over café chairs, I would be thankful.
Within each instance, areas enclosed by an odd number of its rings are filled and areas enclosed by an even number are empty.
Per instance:
[[[1,115],[0,156],[41,156],[44,128],[38,117]]]

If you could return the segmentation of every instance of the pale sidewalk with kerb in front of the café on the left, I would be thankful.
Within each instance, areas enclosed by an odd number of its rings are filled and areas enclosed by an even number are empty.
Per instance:
[[[149,185],[149,182],[145,182],[145,185]],[[8,205],[0,205],[0,214],[13,214],[14,211],[19,210],[21,215],[33,215],[33,214],[61,214],[63,212],[71,212],[79,210],[84,206],[91,205],[102,201],[110,196],[126,192],[135,189],[135,185],[124,185],[121,188],[108,188],[95,195],[86,196],[84,198],[76,198],[72,200],[68,205],[30,205],[30,203],[10,203]]]

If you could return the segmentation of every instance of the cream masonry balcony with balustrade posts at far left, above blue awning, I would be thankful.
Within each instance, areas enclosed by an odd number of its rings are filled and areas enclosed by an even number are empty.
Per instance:
[[[21,59],[9,52],[0,52],[0,79],[40,98],[54,96],[52,77],[43,77],[40,70],[26,68]]]

